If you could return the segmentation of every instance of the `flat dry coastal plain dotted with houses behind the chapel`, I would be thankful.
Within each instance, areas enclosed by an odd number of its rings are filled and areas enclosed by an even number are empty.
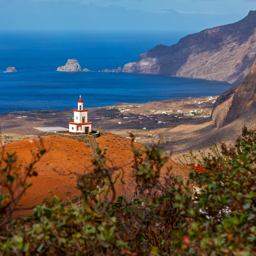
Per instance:
[[[203,113],[202,118],[205,117],[204,119],[206,119],[211,115],[215,99],[216,96],[212,96],[93,107],[88,108],[88,120],[93,122],[92,128],[95,130],[107,131],[123,137],[128,137],[130,132],[133,132],[136,141],[143,143],[149,139],[148,136],[157,136],[180,124],[198,118]],[[202,103],[198,104],[198,102]],[[195,110],[196,112],[194,112]],[[190,115],[189,112],[193,112],[193,114]],[[72,109],[0,114],[2,139],[8,143],[26,138],[26,136],[45,134],[34,129],[35,127],[62,126],[68,128],[68,122],[72,118]]]

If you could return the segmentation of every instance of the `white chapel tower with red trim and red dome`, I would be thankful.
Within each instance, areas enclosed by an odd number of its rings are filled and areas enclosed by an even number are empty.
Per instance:
[[[88,110],[84,110],[84,102],[81,99],[81,95],[79,97],[80,97],[80,99],[78,100],[78,109],[74,110],[74,121],[69,122],[69,134],[91,135],[92,122],[87,122]]]

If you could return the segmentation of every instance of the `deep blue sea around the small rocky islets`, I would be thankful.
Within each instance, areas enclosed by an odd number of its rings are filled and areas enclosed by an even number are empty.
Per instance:
[[[68,59],[99,71],[135,61],[157,44],[172,45],[189,31],[0,31],[0,113],[75,108],[118,102],[143,103],[170,98],[222,94],[232,84],[158,75],[57,72]]]

